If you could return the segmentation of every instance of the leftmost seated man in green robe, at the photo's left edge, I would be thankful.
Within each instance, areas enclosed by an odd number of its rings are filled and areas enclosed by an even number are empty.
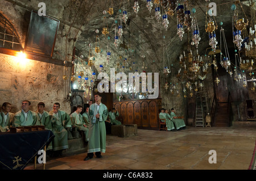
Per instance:
[[[2,104],[2,112],[0,112],[0,132],[9,131],[13,127],[14,113],[11,113],[11,103]]]

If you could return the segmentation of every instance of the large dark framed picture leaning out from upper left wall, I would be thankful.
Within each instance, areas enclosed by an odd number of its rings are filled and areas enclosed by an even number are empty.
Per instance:
[[[52,57],[60,21],[32,10],[24,51]]]

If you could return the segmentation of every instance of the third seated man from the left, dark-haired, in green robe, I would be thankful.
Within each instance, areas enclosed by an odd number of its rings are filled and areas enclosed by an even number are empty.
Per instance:
[[[36,125],[43,125],[44,129],[52,131],[51,118],[49,112],[44,111],[44,103],[38,103],[38,110],[36,110]],[[52,150],[52,142],[48,145],[46,150]]]

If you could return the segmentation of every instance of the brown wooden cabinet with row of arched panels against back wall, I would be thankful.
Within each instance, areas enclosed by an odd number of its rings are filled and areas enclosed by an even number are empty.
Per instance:
[[[143,99],[114,102],[122,124],[137,124],[138,128],[158,129],[162,99]]]

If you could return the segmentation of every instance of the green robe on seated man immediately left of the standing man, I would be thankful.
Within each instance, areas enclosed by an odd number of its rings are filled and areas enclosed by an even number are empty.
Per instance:
[[[70,115],[70,118],[71,118],[72,125],[75,125],[75,127],[77,128],[78,131],[84,131],[85,140],[88,141],[89,140],[89,138],[88,138],[89,129],[84,127],[84,125],[86,125],[86,124],[85,124],[85,121],[84,121],[82,115],[80,113],[77,114],[75,111]]]

